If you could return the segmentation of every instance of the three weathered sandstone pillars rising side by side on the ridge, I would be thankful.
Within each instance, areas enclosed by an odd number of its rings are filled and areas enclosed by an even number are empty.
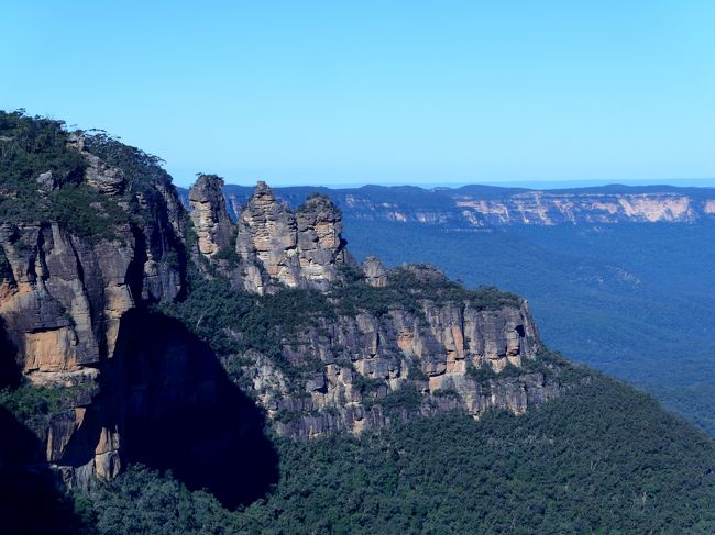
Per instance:
[[[342,214],[327,197],[314,196],[294,213],[261,181],[231,223],[221,194],[223,181],[202,176],[189,191],[199,252],[207,258],[235,254],[223,272],[234,287],[264,294],[282,287],[326,290],[346,261]],[[231,236],[235,235],[235,249]]]

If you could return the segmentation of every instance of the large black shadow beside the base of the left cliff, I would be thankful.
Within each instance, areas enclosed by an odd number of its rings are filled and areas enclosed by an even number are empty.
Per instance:
[[[228,508],[277,482],[263,413],[180,322],[132,311],[122,319],[114,355],[100,375],[101,403],[119,423],[124,464],[170,469]]]

